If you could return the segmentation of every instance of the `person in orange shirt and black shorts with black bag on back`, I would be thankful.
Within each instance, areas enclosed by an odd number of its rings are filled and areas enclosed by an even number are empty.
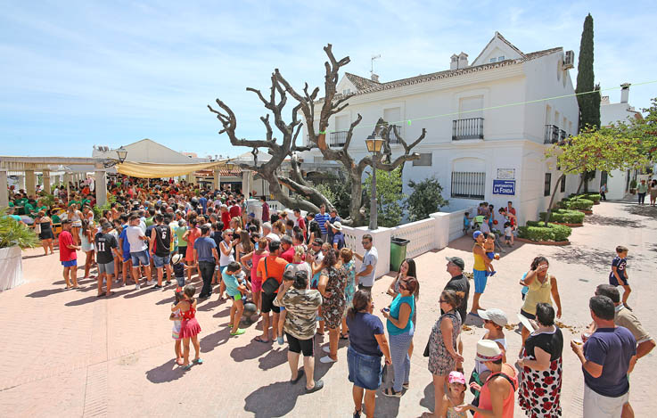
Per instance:
[[[274,305],[278,288],[283,283],[283,272],[287,261],[278,257],[281,253],[281,242],[269,242],[269,255],[260,258],[258,262],[258,277],[262,281],[260,296],[260,315],[262,316],[262,335],[256,341],[269,342],[269,312],[272,312],[272,332],[274,340],[278,339],[278,314],[281,310]]]

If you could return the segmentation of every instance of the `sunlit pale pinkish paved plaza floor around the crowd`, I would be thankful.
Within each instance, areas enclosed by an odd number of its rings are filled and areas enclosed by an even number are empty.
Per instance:
[[[583,227],[574,228],[566,247],[518,244],[495,262],[497,275],[489,280],[481,304],[500,307],[513,324],[521,307],[521,274],[538,254],[551,262],[563,301],[564,417],[581,416],[583,378],[571,352],[573,332],[590,322],[587,301],[595,285],[606,283],[616,245],[629,249],[628,273],[634,307],[653,336],[657,336],[657,209],[634,202],[603,202],[594,207]],[[448,281],[446,256],[465,259],[472,267],[472,240],[461,238],[448,248],[416,258],[422,286],[418,302],[415,355],[410,389],[402,398],[378,396],[376,414],[382,417],[419,416],[433,406],[431,373],[422,357],[431,326],[439,316],[439,292]],[[215,293],[198,307],[203,365],[183,372],[175,365],[171,322],[173,290],[134,286],[118,288],[110,299],[95,297],[95,282],[64,291],[57,253],[42,257],[41,249],[24,253],[26,283],[0,293],[2,338],[0,352],[0,410],[2,416],[351,416],[351,384],[347,379],[346,343],[339,361],[316,362],[316,379],[324,389],[307,395],[303,383],[292,386],[286,346],[253,341],[259,326],[252,324],[239,337],[226,327],[230,305]],[[78,257],[84,255],[78,253]],[[80,271],[80,275],[82,272]],[[390,277],[374,286],[375,304],[390,301],[385,290]],[[199,282],[195,282],[199,286]],[[471,295],[472,303],[472,295]],[[463,333],[464,367],[472,370],[474,348],[483,330],[473,324]],[[520,335],[506,331],[510,362],[520,348]],[[317,341],[328,343],[328,337]],[[631,376],[630,400],[636,416],[648,416],[657,355],[642,358]],[[471,397],[468,395],[466,400]],[[515,416],[524,416],[516,401]]]

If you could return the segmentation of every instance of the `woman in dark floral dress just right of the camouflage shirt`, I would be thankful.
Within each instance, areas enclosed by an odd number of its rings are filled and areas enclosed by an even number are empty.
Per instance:
[[[347,306],[344,288],[347,286],[347,270],[338,262],[335,250],[328,249],[322,260],[322,272],[319,275],[317,290],[322,293],[322,316],[329,329],[329,346],[324,347],[328,356],[319,359],[322,363],[338,361],[338,339],[342,314]]]

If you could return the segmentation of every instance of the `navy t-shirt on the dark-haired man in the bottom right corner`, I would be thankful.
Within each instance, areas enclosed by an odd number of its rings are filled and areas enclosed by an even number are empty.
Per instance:
[[[600,377],[584,370],[584,382],[595,393],[618,398],[629,390],[629,359],[636,355],[636,340],[627,328],[598,328],[584,343],[584,357],[603,366]]]

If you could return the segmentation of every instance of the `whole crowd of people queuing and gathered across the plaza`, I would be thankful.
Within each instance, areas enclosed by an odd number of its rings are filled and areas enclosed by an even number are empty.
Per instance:
[[[379,389],[382,396],[400,398],[410,388],[420,296],[415,261],[407,258],[401,263],[387,289],[390,303],[375,309],[372,288],[378,253],[373,237],[365,234],[362,248],[349,249],[334,209],[322,206],[318,213],[303,216],[300,209],[271,210],[267,199],[259,197],[261,215],[256,216],[242,193],[119,177],[108,185],[110,208],[94,217],[93,195],[71,186],[73,193],[62,189],[52,207],[22,201],[22,194],[13,205],[34,216],[46,255],[53,253],[53,225],[62,225],[56,242],[67,289],[79,287],[81,250],[86,254],[85,277],[97,272],[99,298],[110,297],[112,288],[128,283],[136,289],[144,285],[173,291],[176,301],[169,319],[177,365],[185,370],[203,362],[197,304],[218,294],[231,303],[230,335],[245,332],[240,324],[248,313],[261,318],[262,333],[254,343],[287,342],[290,382],[296,384],[305,376],[308,393],[324,386],[314,376],[317,335],[328,332],[329,344],[319,356],[323,364],[337,362],[339,341],[349,340],[354,417],[374,416]],[[249,197],[256,199],[253,194]],[[467,411],[475,417],[513,416],[516,392],[528,416],[562,414],[563,334],[556,318],[563,310],[547,258],[534,258],[520,278],[522,344],[517,355],[508,353],[505,311],[481,307],[488,280],[497,273],[492,266],[498,258],[496,236],[491,231],[501,223],[505,243],[511,246],[516,227],[511,201],[495,213],[483,202],[475,217],[464,216],[464,232],[471,234],[476,224],[470,310],[471,284],[464,274],[464,259],[447,258],[450,279],[439,296],[440,316],[426,345],[421,345],[435,392],[434,410],[428,416],[464,417]],[[619,246],[616,252],[609,283],[598,286],[589,301],[593,322],[580,340],[571,343],[584,373],[585,417],[633,416],[628,374],[655,346],[628,306],[628,249]],[[198,296],[195,276],[202,281]],[[463,357],[461,340],[468,316],[480,320],[485,330],[473,359]],[[195,351],[191,360],[190,345]],[[391,384],[381,388],[390,367]],[[468,390],[474,398],[466,404]]]

